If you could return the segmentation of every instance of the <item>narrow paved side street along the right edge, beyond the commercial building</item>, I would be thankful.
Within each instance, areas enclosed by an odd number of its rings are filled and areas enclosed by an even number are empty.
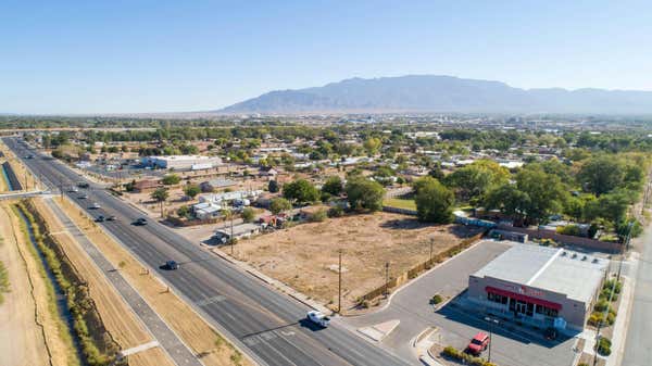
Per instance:
[[[642,242],[623,366],[652,365],[652,230],[645,231]]]

